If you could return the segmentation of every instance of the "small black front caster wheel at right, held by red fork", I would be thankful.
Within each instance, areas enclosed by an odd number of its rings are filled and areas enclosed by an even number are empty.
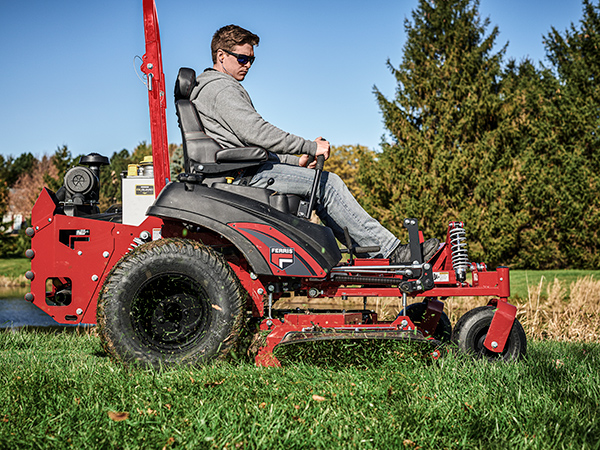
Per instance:
[[[515,319],[502,353],[495,353],[483,346],[487,332],[494,317],[493,306],[481,306],[472,309],[458,319],[452,333],[452,342],[463,352],[476,358],[490,361],[516,361],[527,352],[527,338],[521,323]]]

